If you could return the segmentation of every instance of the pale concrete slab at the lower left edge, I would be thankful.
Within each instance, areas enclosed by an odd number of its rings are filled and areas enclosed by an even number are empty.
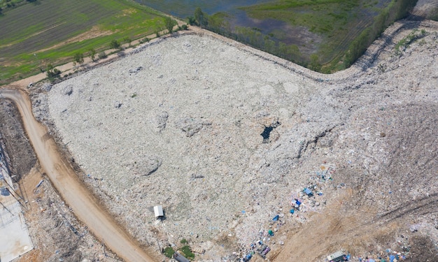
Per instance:
[[[1,141],[0,141],[1,142]],[[0,261],[9,262],[34,248],[13,189],[8,161],[0,143]],[[7,193],[6,193],[7,192]]]

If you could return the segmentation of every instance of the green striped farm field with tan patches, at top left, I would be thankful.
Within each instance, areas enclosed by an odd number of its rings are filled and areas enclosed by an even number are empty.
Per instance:
[[[3,1],[0,5],[3,4]],[[164,29],[164,15],[129,0],[42,0],[0,15],[0,85]]]

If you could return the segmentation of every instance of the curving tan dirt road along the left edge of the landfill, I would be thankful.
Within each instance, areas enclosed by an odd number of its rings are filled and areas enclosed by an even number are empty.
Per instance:
[[[57,150],[55,141],[44,126],[36,122],[27,94],[16,89],[0,89],[0,96],[11,99],[22,116],[24,129],[34,146],[36,156],[64,201],[99,240],[126,261],[154,261],[139,247],[81,184],[76,174]]]

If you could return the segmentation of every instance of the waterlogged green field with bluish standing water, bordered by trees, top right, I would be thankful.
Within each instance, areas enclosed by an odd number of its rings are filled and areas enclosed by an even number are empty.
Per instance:
[[[181,18],[204,12],[203,27],[314,71],[350,66],[416,1],[395,0],[137,0]],[[366,29],[369,31],[366,31]],[[363,34],[361,36],[361,34]],[[358,39],[360,43],[354,43]],[[348,54],[353,50],[352,54]],[[359,50],[356,53],[355,50]]]

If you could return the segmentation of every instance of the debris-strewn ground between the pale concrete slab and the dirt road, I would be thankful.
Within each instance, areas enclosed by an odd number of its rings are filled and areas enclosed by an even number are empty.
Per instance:
[[[27,197],[29,206],[24,216],[35,250],[24,254],[18,261],[31,261],[36,258],[36,261],[53,262],[117,259],[117,256],[105,249],[101,242],[88,232],[86,226],[80,224],[52,188],[52,184],[40,184],[33,192],[28,192]]]

